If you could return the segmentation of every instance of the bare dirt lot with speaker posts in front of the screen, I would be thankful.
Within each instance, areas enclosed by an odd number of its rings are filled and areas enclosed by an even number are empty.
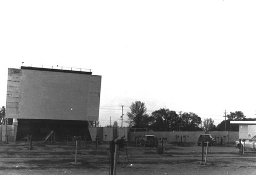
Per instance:
[[[0,174],[109,174],[109,143],[100,143],[97,150],[93,143],[78,146],[74,164],[74,143],[33,142],[28,150],[26,142],[0,145]],[[126,151],[120,151],[119,163],[125,161]],[[234,146],[212,146],[207,165],[200,164],[202,147],[196,144],[177,146],[167,143],[165,155],[157,149],[127,146],[129,163],[117,167],[117,174],[256,174],[256,152],[239,154]]]

